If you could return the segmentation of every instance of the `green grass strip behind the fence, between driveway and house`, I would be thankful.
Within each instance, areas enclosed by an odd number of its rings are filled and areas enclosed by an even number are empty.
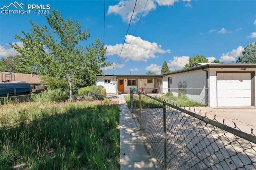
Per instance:
[[[178,107],[206,107],[206,104],[199,103],[197,101],[193,101],[191,99],[188,99],[188,97],[179,96],[174,97],[173,95],[165,95],[165,96],[155,96],[155,98],[160,99],[162,101],[166,101],[167,103],[171,103],[172,105],[176,105]],[[130,105],[130,97],[125,96],[124,97],[127,105]],[[133,95],[133,106],[134,108],[139,107],[139,95]],[[149,97],[146,97],[144,95],[141,95],[141,107],[142,108],[161,108],[162,103],[151,99]]]

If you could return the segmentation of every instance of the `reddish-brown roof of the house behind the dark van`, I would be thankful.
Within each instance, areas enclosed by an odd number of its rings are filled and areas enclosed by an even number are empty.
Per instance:
[[[40,77],[34,74],[25,74],[25,73],[9,73],[0,71],[1,82],[4,83],[6,80],[10,81],[26,81],[30,84],[40,84]]]

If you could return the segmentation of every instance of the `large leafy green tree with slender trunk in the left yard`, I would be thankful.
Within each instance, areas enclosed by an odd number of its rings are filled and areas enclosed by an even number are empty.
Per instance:
[[[80,45],[90,37],[89,29],[81,30],[80,22],[64,19],[58,10],[52,10],[46,20],[48,26],[39,26],[30,20],[31,33],[22,30],[24,37],[15,34],[14,38],[22,41],[24,47],[10,45],[21,53],[21,61],[32,65],[38,75],[66,79],[73,101],[74,82],[84,75],[91,77],[101,73],[101,67],[110,65],[105,62],[106,48],[99,39],[85,47]]]

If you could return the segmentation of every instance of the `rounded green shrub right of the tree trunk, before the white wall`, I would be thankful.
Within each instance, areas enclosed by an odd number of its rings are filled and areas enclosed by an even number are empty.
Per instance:
[[[78,89],[78,96],[84,100],[103,100],[106,97],[106,90],[102,85],[87,86]]]

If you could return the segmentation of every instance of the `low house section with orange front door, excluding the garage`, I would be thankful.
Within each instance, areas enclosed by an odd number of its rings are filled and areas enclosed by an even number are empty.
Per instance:
[[[106,93],[130,93],[130,87],[158,93],[162,89],[162,78],[163,75],[97,75],[96,85],[104,86]]]

